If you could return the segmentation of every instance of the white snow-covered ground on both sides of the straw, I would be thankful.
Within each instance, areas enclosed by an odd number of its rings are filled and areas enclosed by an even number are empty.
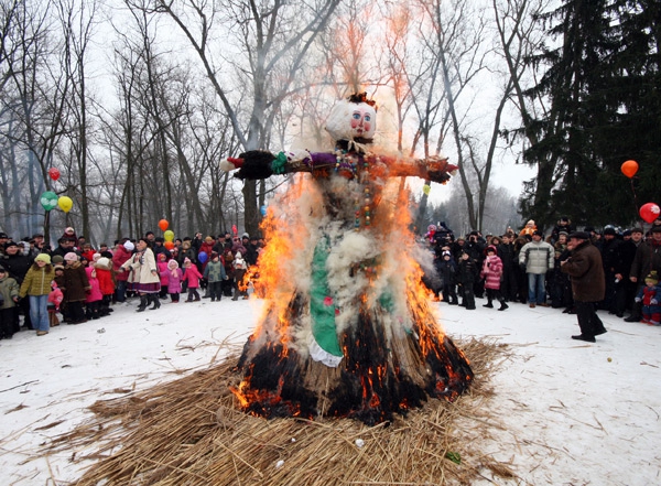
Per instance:
[[[495,484],[661,484],[661,328],[599,312],[596,344],[570,338],[576,317],[511,304],[506,312],[437,303],[454,338],[509,344],[489,402],[503,428],[487,452],[519,475]],[[0,485],[65,485],[69,455],[31,460],[39,444],[89,418],[98,399],[144,389],[223,358],[259,315],[256,300],[163,304],[0,341]],[[220,349],[220,350],[219,350]],[[487,484],[487,483],[485,483]]]

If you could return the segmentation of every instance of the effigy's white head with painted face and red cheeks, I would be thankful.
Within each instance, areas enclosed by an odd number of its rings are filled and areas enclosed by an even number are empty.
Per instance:
[[[366,102],[339,101],[326,120],[326,130],[335,140],[372,139],[377,110]]]

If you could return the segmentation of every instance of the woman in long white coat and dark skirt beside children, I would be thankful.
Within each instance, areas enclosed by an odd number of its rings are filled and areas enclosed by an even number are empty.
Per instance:
[[[129,270],[131,272],[128,280],[128,288],[140,295],[140,305],[138,305],[137,312],[143,312],[150,303],[153,303],[150,307],[152,311],[161,306],[161,302],[159,301],[161,277],[159,276],[154,253],[149,247],[147,238],[138,240],[136,244],[136,253],[121,264],[120,270]]]

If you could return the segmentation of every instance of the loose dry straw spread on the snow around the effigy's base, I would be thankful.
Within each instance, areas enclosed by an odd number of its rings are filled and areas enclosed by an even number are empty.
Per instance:
[[[489,434],[486,378],[500,353],[463,344],[477,379],[454,403],[430,400],[405,419],[264,420],[237,411],[235,359],[130,397],[98,401],[96,418],[51,444],[97,461],[77,485],[437,485],[513,476],[479,450]],[[486,413],[486,414],[485,414]],[[89,450],[96,451],[87,454]],[[83,453],[82,451],[85,451]]]

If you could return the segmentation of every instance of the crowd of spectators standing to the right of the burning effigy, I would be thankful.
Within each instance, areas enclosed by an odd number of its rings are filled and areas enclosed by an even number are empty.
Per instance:
[[[661,274],[661,219],[647,231],[610,225],[602,230],[587,226],[576,231],[568,217],[560,218],[551,231],[542,231],[531,219],[518,233],[508,228],[501,235],[474,230],[466,236],[455,236],[445,224],[431,225],[425,245],[434,255],[436,271],[426,276],[427,287],[444,302],[467,310],[475,309],[475,298],[485,295],[484,305],[491,307],[495,296],[491,293],[489,298],[487,291],[499,284],[499,296],[506,303],[575,314],[572,277],[562,270],[562,262],[572,258],[570,239],[581,236],[578,233],[586,235],[602,259],[605,291],[604,298],[594,303],[596,309],[627,322],[659,325],[661,306],[650,311],[649,304],[653,301],[652,306],[661,305],[661,292],[655,299],[646,296],[652,294],[646,288],[657,289]],[[490,249],[500,260],[496,282],[490,282]],[[505,309],[501,305],[499,310]]]

